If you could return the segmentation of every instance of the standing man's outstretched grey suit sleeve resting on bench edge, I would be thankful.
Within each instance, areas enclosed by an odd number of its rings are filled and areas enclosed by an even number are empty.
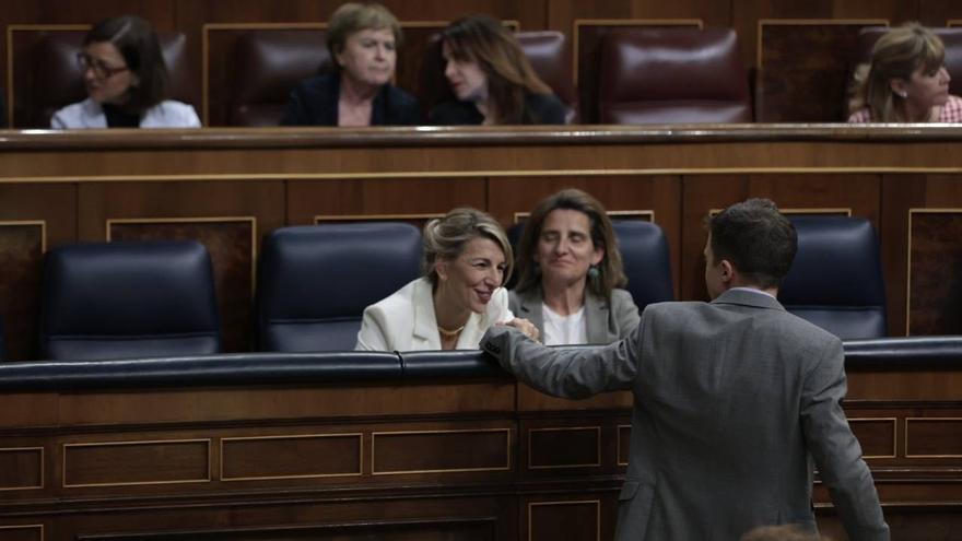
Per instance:
[[[531,341],[513,327],[494,326],[481,339],[481,349],[541,392],[576,399],[630,389],[637,374],[640,349],[634,341],[640,336],[605,348],[555,349]]]

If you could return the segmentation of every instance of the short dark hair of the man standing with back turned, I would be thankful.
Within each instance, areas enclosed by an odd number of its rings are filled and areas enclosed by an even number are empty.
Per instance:
[[[708,219],[715,264],[727,259],[746,282],[777,287],[798,249],[795,226],[769,199],[749,199]]]

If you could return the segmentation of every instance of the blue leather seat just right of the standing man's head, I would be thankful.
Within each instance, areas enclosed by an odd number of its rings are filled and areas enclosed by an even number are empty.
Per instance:
[[[791,216],[798,254],[778,299],[788,311],[843,340],[885,336],[879,242],[868,220]]]

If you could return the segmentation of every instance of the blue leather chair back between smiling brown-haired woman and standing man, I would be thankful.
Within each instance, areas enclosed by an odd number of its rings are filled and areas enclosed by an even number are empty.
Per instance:
[[[674,299],[668,240],[657,224],[640,220],[614,220],[614,234],[627,275],[627,287],[638,310],[652,303]]]

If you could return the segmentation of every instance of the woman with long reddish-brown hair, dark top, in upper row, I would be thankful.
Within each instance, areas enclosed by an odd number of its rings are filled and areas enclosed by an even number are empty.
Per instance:
[[[567,108],[501,21],[488,15],[455,21],[442,32],[441,48],[457,101],[434,107],[431,124],[565,124]]]

